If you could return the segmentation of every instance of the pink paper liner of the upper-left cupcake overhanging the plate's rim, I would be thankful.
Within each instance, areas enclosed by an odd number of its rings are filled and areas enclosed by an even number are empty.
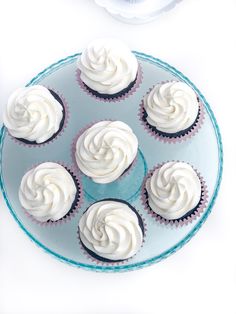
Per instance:
[[[21,145],[21,146],[25,146],[25,147],[29,147],[29,148],[36,148],[36,147],[44,147],[48,144],[51,144],[52,142],[56,141],[59,136],[62,136],[62,134],[64,133],[67,125],[68,125],[68,121],[69,121],[69,116],[70,116],[70,112],[69,112],[69,107],[68,107],[68,103],[66,101],[66,99],[64,98],[64,96],[62,94],[60,94],[59,92],[57,92],[56,90],[54,90],[53,88],[51,87],[48,87],[48,86],[45,86],[48,90],[51,90],[53,91],[54,93],[56,93],[60,99],[62,100],[62,103],[63,103],[63,108],[64,108],[64,122],[63,122],[63,125],[62,125],[62,128],[58,131],[58,133],[54,136],[52,136],[53,138],[52,139],[48,139],[46,142],[44,143],[41,143],[41,144],[28,144],[28,143],[25,143],[21,140],[19,140],[18,138],[12,136],[8,130],[7,130],[7,133],[9,134],[9,137],[15,142],[17,143],[18,145]]]

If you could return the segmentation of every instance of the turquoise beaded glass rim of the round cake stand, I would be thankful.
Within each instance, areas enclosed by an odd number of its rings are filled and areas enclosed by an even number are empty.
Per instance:
[[[62,262],[65,262],[65,263],[67,263],[69,265],[81,267],[81,268],[84,268],[84,269],[87,269],[87,270],[93,270],[93,271],[99,271],[99,272],[120,272],[120,271],[135,270],[135,269],[140,269],[140,268],[143,268],[145,266],[149,266],[151,264],[160,262],[164,258],[167,258],[171,254],[175,253],[177,250],[182,248],[197,233],[197,231],[201,228],[203,223],[206,221],[206,219],[209,216],[209,214],[210,214],[210,212],[211,212],[211,210],[213,208],[213,205],[215,203],[216,197],[217,197],[218,192],[219,192],[221,180],[222,180],[222,173],[223,173],[223,145],[222,145],[222,139],[221,139],[221,135],[220,135],[220,129],[219,129],[219,126],[217,124],[217,121],[216,121],[216,118],[214,116],[214,113],[211,110],[210,105],[206,101],[205,97],[201,94],[201,92],[198,90],[198,88],[184,74],[182,74],[180,71],[175,69],[173,66],[169,65],[168,63],[166,63],[164,61],[161,61],[158,58],[152,57],[151,55],[147,55],[145,53],[141,53],[141,52],[137,52],[137,51],[133,51],[133,52],[134,52],[134,54],[138,58],[141,58],[141,59],[143,59],[145,61],[148,61],[148,62],[152,62],[154,64],[158,64],[160,67],[164,68],[165,70],[171,72],[172,74],[174,74],[175,76],[177,76],[181,80],[183,80],[186,83],[188,83],[195,90],[195,92],[199,95],[199,97],[201,98],[201,101],[204,103],[205,108],[206,108],[206,110],[209,113],[211,122],[212,122],[212,124],[214,126],[214,129],[215,129],[215,134],[216,134],[217,144],[218,144],[219,167],[218,167],[217,184],[216,184],[216,187],[215,187],[212,199],[211,199],[211,201],[210,201],[210,203],[208,205],[207,210],[201,216],[201,218],[199,219],[199,222],[194,226],[194,228],[191,230],[191,232],[189,232],[181,241],[179,241],[177,244],[172,246],[170,249],[164,251],[162,254],[157,255],[157,256],[155,256],[153,258],[147,259],[147,260],[145,260],[143,262],[134,263],[132,265],[100,266],[100,265],[88,265],[88,264],[76,262],[74,260],[71,260],[71,259],[69,259],[69,258],[67,258],[65,256],[62,256],[62,255],[54,252],[53,250],[49,249],[44,244],[42,244],[39,240],[37,240],[24,227],[24,225],[18,219],[17,214],[15,213],[14,209],[11,207],[10,201],[9,201],[9,199],[7,197],[7,192],[6,192],[6,189],[5,189],[5,186],[4,186],[4,181],[3,181],[3,176],[2,176],[2,149],[3,149],[4,138],[5,138],[5,133],[6,133],[6,129],[5,129],[4,126],[2,126],[1,132],[0,132],[0,187],[1,187],[1,190],[2,190],[2,194],[3,194],[4,200],[5,200],[6,204],[7,204],[7,207],[9,208],[10,213],[12,214],[13,218],[16,220],[16,222],[18,223],[20,228],[28,235],[28,237],[36,245],[38,245],[41,249],[43,249],[46,253],[50,254],[51,256],[59,259]],[[61,60],[51,64],[49,67],[47,67],[46,69],[41,71],[39,74],[37,74],[26,86],[34,85],[34,84],[37,83],[38,80],[40,80],[43,77],[47,76],[49,73],[53,73],[54,71],[58,70],[59,68],[61,68],[65,64],[69,64],[69,63],[74,62],[76,60],[76,58],[80,54],[81,53],[73,54],[71,56],[68,56],[68,57],[66,57],[64,59],[61,59]]]

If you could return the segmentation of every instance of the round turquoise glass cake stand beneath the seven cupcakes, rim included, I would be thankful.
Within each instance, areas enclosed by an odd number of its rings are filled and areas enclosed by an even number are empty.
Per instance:
[[[118,102],[98,101],[81,89],[76,79],[76,60],[80,54],[60,60],[34,77],[28,85],[42,84],[57,91],[66,100],[69,120],[63,134],[40,147],[19,145],[3,126],[0,136],[1,189],[6,204],[20,228],[40,248],[70,265],[88,270],[120,272],[138,269],[159,262],[180,249],[200,229],[214,205],[222,177],[223,152],[219,127],[204,96],[181,72],[167,63],[140,52],[134,52],[143,78],[136,91]],[[150,87],[160,81],[181,80],[197,93],[205,108],[202,127],[192,138],[170,144],[151,137],[138,117],[139,105]],[[58,161],[73,166],[72,142],[80,130],[99,120],[121,120],[127,123],[139,140],[137,163],[130,172],[111,185],[101,186],[80,174],[84,190],[78,213],[63,224],[41,226],[25,215],[18,199],[18,189],[24,173],[33,165]],[[171,227],[156,221],[141,202],[141,185],[146,173],[155,165],[170,160],[190,163],[203,176],[208,189],[204,212],[192,223]],[[78,221],[94,201],[119,197],[130,202],[146,224],[145,242],[140,251],[123,264],[99,264],[82,251],[77,236]]]

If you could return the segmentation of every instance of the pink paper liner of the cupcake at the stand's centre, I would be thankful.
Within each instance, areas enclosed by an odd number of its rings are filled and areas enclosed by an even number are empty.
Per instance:
[[[115,121],[113,119],[104,119],[104,120],[97,120],[97,121],[93,121],[89,124],[87,124],[85,127],[83,127],[82,129],[80,129],[80,131],[76,134],[76,136],[73,138],[72,140],[72,144],[71,144],[71,159],[72,159],[72,162],[74,164],[74,168],[77,170],[77,172],[79,174],[83,174],[86,176],[86,174],[84,174],[78,167],[77,165],[77,162],[76,162],[76,158],[75,158],[75,152],[76,152],[76,143],[77,143],[77,140],[78,138],[89,128],[91,128],[94,124],[98,123],[98,122],[102,122],[102,121]],[[137,152],[137,155],[136,157],[134,158],[132,164],[129,166],[129,168],[127,170],[124,171],[124,173],[119,177],[117,178],[115,181],[117,180],[122,180],[124,179],[125,177],[127,177],[131,171],[133,170],[133,168],[136,166],[137,164],[137,160],[138,160],[138,152]],[[114,181],[112,181],[114,182]],[[109,183],[108,183],[109,184]]]

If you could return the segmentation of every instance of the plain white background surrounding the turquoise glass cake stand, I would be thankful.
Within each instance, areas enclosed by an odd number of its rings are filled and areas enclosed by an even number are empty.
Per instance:
[[[215,112],[224,176],[207,222],[151,267],[101,274],[35,246],[0,199],[0,313],[236,313],[236,1],[184,0],[145,25],[122,24],[92,0],[0,0],[0,102],[96,37],[116,36],[187,75]],[[211,158],[211,156],[206,156]]]

